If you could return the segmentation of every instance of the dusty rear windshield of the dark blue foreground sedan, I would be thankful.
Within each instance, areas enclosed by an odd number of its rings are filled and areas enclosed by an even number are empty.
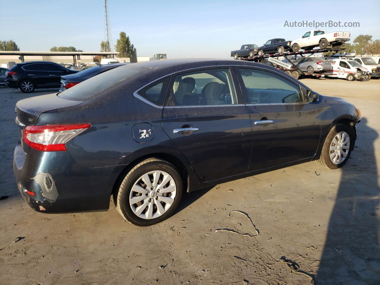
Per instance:
[[[107,92],[126,79],[131,79],[146,72],[149,72],[146,68],[123,65],[66,89],[59,93],[58,97],[78,101],[89,100]]]

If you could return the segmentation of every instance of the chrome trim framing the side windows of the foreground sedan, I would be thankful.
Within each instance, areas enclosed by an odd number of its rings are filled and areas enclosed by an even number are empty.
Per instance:
[[[255,62],[256,63],[256,62]],[[172,73],[168,73],[164,76],[161,76],[160,78],[157,78],[157,79],[154,79],[153,81],[149,82],[148,84],[145,84],[144,86],[140,87],[139,89],[137,89],[135,92],[133,92],[133,96],[135,96],[137,99],[149,104],[150,106],[153,106],[155,108],[158,108],[158,109],[163,109],[163,108],[185,108],[185,107],[190,107],[190,108],[194,108],[194,107],[220,107],[220,106],[245,106],[245,105],[259,105],[259,104],[230,104],[230,105],[195,105],[195,106],[158,106],[152,102],[150,102],[149,100],[145,99],[144,97],[142,97],[141,95],[139,95],[139,91],[145,87],[147,87],[148,85],[160,80],[160,79],[163,79],[165,78],[166,76],[172,76],[173,74],[176,74],[176,73],[181,73],[181,72],[184,72],[184,71],[188,71],[188,70],[194,70],[194,69],[199,69],[199,68],[208,68],[208,67],[253,67],[255,68],[255,66],[250,66],[250,65],[238,65],[238,64],[233,64],[233,65],[209,65],[209,66],[201,66],[201,67],[196,67],[196,68],[188,68],[188,69],[184,69],[184,70],[179,70],[179,71],[175,71],[175,72],[172,72]],[[277,70],[271,70],[269,68],[265,68],[265,67],[259,67],[261,69],[264,69],[264,70],[269,70],[269,71],[272,71],[272,72],[275,72],[275,73],[278,73],[281,75],[280,72],[278,72]],[[296,84],[299,86],[300,90],[301,90],[301,85],[298,84],[298,82],[295,81],[295,79],[293,78],[286,78],[287,80],[289,81],[294,81],[293,84]],[[234,87],[235,88],[235,87]],[[170,86],[169,86],[169,89],[170,89]],[[236,90],[235,90],[236,92]],[[260,105],[277,105],[277,104],[304,104],[304,103],[307,103],[307,102],[300,102],[300,103],[271,103],[271,104],[260,104]]]

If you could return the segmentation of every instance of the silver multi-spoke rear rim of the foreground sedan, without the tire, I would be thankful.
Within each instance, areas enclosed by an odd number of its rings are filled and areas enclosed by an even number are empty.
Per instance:
[[[138,217],[157,218],[171,207],[176,190],[176,183],[169,173],[161,170],[150,171],[133,184],[129,204]]]

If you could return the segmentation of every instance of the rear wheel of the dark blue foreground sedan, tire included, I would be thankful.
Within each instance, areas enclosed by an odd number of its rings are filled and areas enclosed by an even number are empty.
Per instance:
[[[157,173],[158,176],[155,178],[154,175]],[[161,188],[162,180],[168,176],[168,182]],[[155,179],[157,180],[155,181]],[[147,185],[145,181],[155,183],[156,187],[146,190],[149,184]],[[154,225],[173,214],[182,196],[182,185],[182,178],[174,165],[160,158],[149,158],[141,161],[125,175],[119,189],[114,193],[114,203],[120,215],[131,224],[136,226]],[[161,192],[169,187],[170,192]],[[133,191],[132,188],[141,192]],[[145,198],[139,199],[140,196]],[[174,198],[171,198],[172,196]],[[136,201],[134,204],[131,201],[133,198],[133,201]]]

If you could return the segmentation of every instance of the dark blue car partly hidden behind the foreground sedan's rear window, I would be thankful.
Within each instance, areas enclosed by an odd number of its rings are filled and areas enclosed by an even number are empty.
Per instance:
[[[85,81],[86,79],[89,79],[95,75],[98,75],[100,73],[103,73],[105,71],[114,69],[116,67],[125,65],[128,63],[113,63],[113,64],[105,64],[105,65],[97,65],[92,68],[87,68],[85,70],[79,71],[75,74],[68,74],[61,76],[61,88],[59,89],[59,92],[62,92],[63,90],[69,89],[73,87],[74,85]]]

